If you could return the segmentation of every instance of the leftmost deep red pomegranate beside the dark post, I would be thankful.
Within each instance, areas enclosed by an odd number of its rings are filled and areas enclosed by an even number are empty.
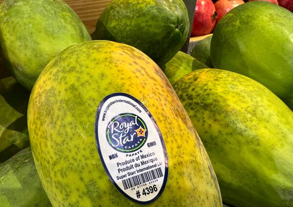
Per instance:
[[[197,0],[191,37],[210,34],[216,24],[217,13],[211,0]]]

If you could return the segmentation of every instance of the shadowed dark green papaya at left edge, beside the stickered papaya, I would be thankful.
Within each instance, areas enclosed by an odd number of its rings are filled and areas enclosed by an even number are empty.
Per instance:
[[[0,79],[0,163],[29,146],[27,105],[30,91],[14,78]]]

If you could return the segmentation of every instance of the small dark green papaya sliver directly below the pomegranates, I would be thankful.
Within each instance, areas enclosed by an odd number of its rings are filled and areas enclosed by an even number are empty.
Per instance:
[[[206,65],[208,65],[209,68],[213,68],[211,58],[210,58],[210,41],[211,37],[209,36],[197,44],[194,45],[191,56],[198,60],[199,62],[202,62]]]

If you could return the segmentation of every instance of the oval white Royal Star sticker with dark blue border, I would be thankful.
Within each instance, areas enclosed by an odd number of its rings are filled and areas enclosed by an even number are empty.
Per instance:
[[[147,108],[126,93],[106,96],[96,116],[98,152],[109,179],[128,199],[148,204],[168,176],[166,146]]]

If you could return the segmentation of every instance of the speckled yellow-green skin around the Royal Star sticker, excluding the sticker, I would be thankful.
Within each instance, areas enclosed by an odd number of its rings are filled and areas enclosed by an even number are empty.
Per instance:
[[[67,48],[45,67],[32,90],[30,141],[53,206],[141,206],[111,183],[97,150],[97,108],[117,92],[146,106],[167,149],[167,185],[145,206],[222,206],[209,157],[166,76],[141,51],[112,41]]]

